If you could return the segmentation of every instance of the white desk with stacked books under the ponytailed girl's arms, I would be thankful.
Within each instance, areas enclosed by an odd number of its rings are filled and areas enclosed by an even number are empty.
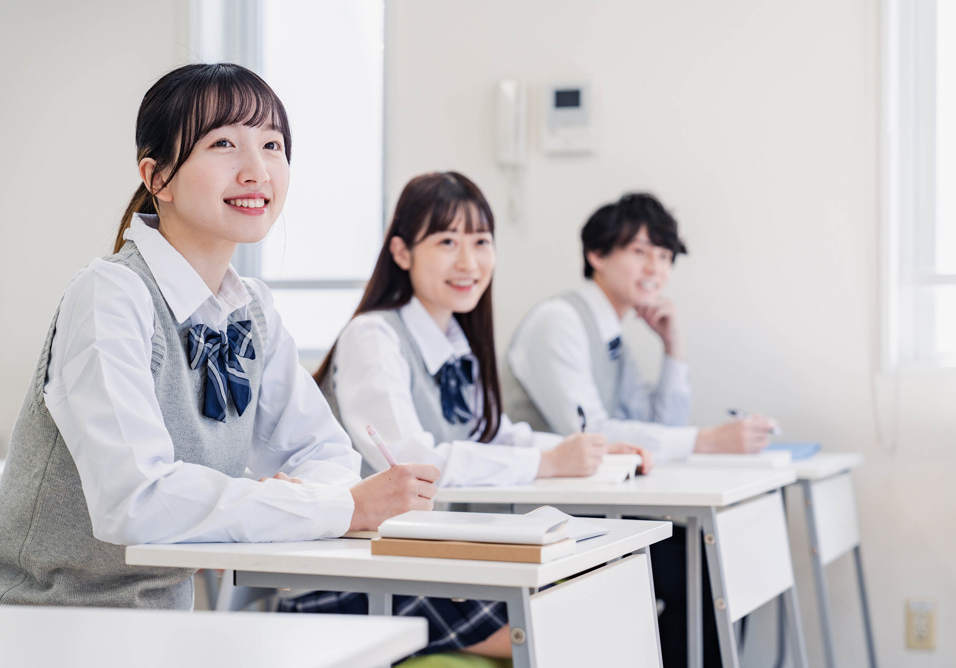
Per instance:
[[[373,556],[369,541],[348,538],[137,545],[126,548],[126,563],[226,569],[235,571],[235,584],[242,586],[365,592],[372,614],[391,614],[393,594],[505,601],[515,668],[660,668],[647,546],[669,537],[671,524],[596,522],[611,532],[581,541],[574,554],[546,564]],[[539,591],[595,567],[600,568]]]

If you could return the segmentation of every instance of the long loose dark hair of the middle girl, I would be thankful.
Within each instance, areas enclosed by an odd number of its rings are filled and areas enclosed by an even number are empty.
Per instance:
[[[478,186],[458,172],[436,172],[417,176],[405,185],[395,217],[385,233],[379,261],[365,287],[355,315],[370,311],[398,309],[412,298],[412,283],[408,272],[395,264],[392,258],[392,237],[399,237],[408,248],[429,234],[448,229],[459,215],[465,216],[465,231],[488,231],[494,234],[494,216],[491,207]],[[355,317],[353,315],[353,317]],[[478,373],[484,415],[472,434],[481,430],[479,442],[489,442],[498,433],[501,424],[501,387],[494,353],[494,325],[491,320],[491,285],[470,312],[455,313],[455,319],[478,359]],[[336,346],[325,356],[315,372],[315,382],[331,372]]]

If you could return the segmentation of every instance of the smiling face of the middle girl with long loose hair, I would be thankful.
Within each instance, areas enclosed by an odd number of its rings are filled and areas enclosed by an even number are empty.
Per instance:
[[[452,313],[471,312],[478,305],[496,261],[491,233],[467,233],[462,211],[447,230],[429,234],[411,249],[393,237],[391,251],[396,264],[408,271],[415,296],[443,329]]]

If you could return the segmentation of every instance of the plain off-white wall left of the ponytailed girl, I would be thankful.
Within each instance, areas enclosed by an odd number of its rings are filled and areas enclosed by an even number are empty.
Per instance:
[[[112,251],[143,94],[185,64],[188,2],[8,2],[0,39],[0,456],[67,281]]]

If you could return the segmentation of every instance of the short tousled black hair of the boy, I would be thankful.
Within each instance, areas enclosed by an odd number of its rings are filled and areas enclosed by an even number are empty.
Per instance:
[[[624,248],[647,227],[647,236],[654,246],[667,248],[674,260],[687,247],[677,234],[677,221],[656,197],[646,192],[630,192],[612,205],[597,209],[581,229],[581,247],[584,255],[584,276],[591,278],[595,269],[588,262],[588,253],[603,257],[615,248]]]

